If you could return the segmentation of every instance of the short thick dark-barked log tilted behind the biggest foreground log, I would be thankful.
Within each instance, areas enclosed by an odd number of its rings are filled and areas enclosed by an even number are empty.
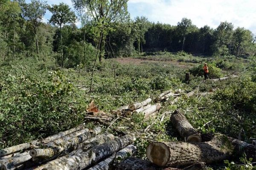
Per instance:
[[[172,125],[177,129],[180,137],[186,142],[201,142],[201,134],[189,123],[179,110],[174,111],[170,117]]]

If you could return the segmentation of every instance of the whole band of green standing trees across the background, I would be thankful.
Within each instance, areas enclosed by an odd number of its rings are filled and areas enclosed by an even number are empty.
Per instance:
[[[62,67],[91,65],[102,58],[129,57],[143,51],[185,51],[201,55],[256,55],[256,36],[243,27],[221,22],[198,28],[183,18],[176,26],[131,20],[128,0],[72,0],[48,5],[31,0],[0,0],[0,56],[55,57]],[[46,23],[46,11],[52,17]],[[81,23],[78,28],[75,23]],[[96,60],[95,60],[96,59]]]

